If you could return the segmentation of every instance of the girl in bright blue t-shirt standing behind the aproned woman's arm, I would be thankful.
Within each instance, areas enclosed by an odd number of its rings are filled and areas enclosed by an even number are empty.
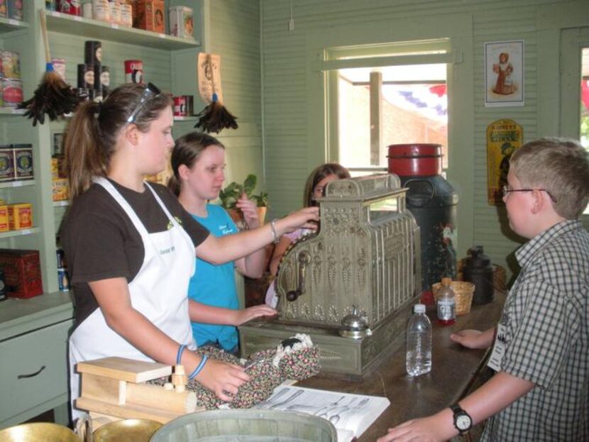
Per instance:
[[[225,209],[209,201],[219,197],[225,180],[225,148],[219,140],[205,133],[192,132],[176,140],[172,150],[174,175],[168,186],[184,208],[214,236],[231,235],[238,228]],[[237,202],[248,228],[260,226],[256,205],[244,194]],[[234,267],[248,277],[263,273],[265,250],[245,258],[214,265],[197,258],[197,270],[188,287],[188,297],[197,302],[199,322],[192,322],[198,346],[215,345],[224,350],[238,350],[236,327],[256,316],[273,315],[268,306],[238,309]],[[223,325],[220,325],[223,324]]]

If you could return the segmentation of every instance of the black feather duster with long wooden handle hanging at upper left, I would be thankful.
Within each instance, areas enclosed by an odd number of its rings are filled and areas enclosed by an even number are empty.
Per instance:
[[[18,109],[26,109],[25,116],[33,118],[33,126],[37,122],[45,123],[45,114],[54,121],[59,116],[70,114],[80,99],[74,89],[67,84],[57,72],[53,71],[53,63],[49,53],[49,40],[47,37],[47,23],[45,13],[39,11],[43,43],[45,43],[45,74],[33,94],[33,98],[23,101]]]

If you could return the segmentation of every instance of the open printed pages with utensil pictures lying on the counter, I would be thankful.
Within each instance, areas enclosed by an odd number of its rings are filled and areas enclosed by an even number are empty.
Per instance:
[[[279,385],[272,396],[254,408],[303,413],[327,419],[338,431],[338,442],[349,442],[368,429],[389,406],[389,399],[363,394]]]

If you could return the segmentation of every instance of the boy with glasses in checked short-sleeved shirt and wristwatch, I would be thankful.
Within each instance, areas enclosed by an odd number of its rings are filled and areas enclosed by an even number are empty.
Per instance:
[[[384,441],[444,441],[488,419],[481,441],[589,441],[588,153],[576,141],[543,138],[510,160],[503,200],[512,230],[529,238],[497,327],[453,341],[493,345],[497,373],[459,404],[407,421]]]

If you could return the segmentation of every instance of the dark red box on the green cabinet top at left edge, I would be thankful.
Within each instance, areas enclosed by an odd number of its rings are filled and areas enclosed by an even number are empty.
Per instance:
[[[0,268],[4,271],[9,297],[31,298],[43,294],[38,250],[1,248]]]

